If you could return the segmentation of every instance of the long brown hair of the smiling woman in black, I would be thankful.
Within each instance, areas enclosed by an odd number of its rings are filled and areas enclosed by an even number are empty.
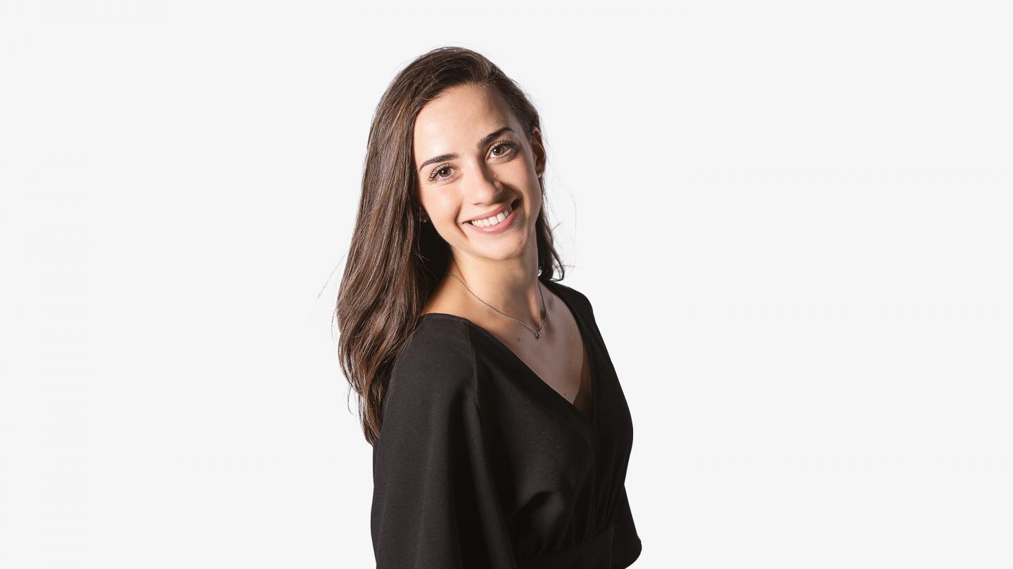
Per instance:
[[[335,315],[341,372],[359,395],[359,416],[370,444],[380,436],[384,394],[394,361],[417,324],[451,260],[450,246],[420,223],[412,154],[415,117],[453,86],[498,89],[531,140],[541,120],[527,95],[498,67],[464,48],[433,50],[408,64],[380,98],[367,142],[359,213],[345,257]],[[539,278],[565,270],[542,208],[535,222]],[[556,279],[556,280],[558,280]]]

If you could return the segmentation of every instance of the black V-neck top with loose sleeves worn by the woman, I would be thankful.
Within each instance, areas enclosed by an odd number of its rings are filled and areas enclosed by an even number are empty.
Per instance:
[[[541,282],[580,329],[591,417],[484,328],[423,314],[373,446],[378,569],[621,569],[640,555],[626,398],[588,298]]]

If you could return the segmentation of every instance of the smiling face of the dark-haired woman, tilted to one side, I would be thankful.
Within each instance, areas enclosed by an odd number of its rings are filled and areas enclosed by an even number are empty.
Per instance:
[[[528,135],[496,89],[473,84],[444,91],[415,118],[419,199],[455,257],[531,258],[545,152],[538,130]]]

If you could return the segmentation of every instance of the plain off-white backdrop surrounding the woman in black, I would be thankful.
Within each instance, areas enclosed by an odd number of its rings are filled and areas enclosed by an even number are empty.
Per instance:
[[[542,113],[634,567],[1013,567],[1007,6],[3,0],[0,566],[373,565],[332,311],[462,46]]]

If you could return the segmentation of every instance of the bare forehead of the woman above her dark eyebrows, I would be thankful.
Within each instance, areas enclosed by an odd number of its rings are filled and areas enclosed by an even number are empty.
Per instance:
[[[451,87],[427,102],[415,117],[415,162],[433,154],[466,152],[479,139],[502,127],[520,132],[496,89],[473,84]]]

